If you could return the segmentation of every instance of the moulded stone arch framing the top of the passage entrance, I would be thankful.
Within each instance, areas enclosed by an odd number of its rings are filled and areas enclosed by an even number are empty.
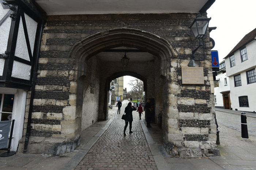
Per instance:
[[[68,56],[78,61],[79,78],[86,75],[86,63],[92,56],[122,46],[137,48],[161,58],[160,72],[163,76],[170,72],[170,58],[178,55],[167,40],[153,33],[133,28],[116,28],[96,33],[76,43]]]

